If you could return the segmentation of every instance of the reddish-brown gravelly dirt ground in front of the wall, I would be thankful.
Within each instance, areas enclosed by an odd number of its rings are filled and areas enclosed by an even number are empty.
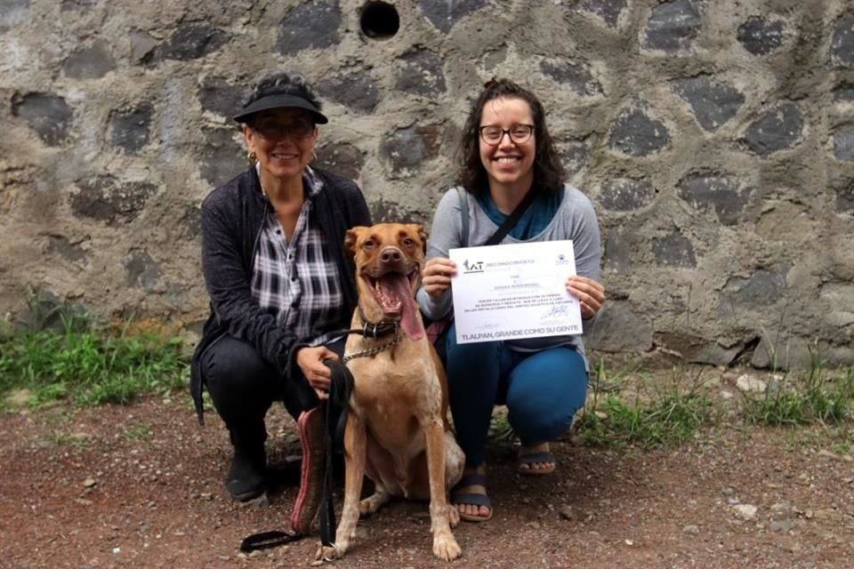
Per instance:
[[[721,377],[720,389],[731,381]],[[0,567],[317,565],[317,535],[238,550],[248,533],[280,528],[290,512],[297,463],[286,414],[270,415],[266,508],[230,501],[222,484],[230,445],[214,413],[206,417],[200,428],[178,396],[0,416]],[[433,558],[426,505],[396,502],[360,524],[334,565],[850,568],[854,460],[832,440],[823,429],[725,417],[671,450],[560,441],[558,471],[536,478],[516,475],[512,444],[496,442],[488,455],[495,517],[455,530],[461,559]]]

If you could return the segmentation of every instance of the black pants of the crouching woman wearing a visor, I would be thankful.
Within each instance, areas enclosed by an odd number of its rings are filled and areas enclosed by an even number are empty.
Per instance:
[[[327,346],[342,356],[344,341]],[[217,413],[229,429],[231,444],[247,451],[267,440],[264,417],[274,401],[282,401],[294,419],[318,406],[318,395],[299,368],[282,377],[249,342],[224,336],[202,356],[202,377]]]

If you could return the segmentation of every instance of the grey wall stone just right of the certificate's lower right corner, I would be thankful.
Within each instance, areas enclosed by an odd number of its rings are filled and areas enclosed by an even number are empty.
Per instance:
[[[584,344],[608,352],[645,352],[652,349],[652,323],[626,302],[608,302],[596,315]]]

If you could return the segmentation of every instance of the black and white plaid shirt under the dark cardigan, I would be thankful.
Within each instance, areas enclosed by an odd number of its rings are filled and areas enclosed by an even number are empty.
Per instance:
[[[270,208],[264,220],[252,274],[252,296],[276,317],[279,325],[294,330],[311,346],[341,338],[330,330],[340,320],[343,306],[341,277],[317,223],[312,223],[311,197],[323,182],[306,167],[302,177],[306,199],[288,241]]]

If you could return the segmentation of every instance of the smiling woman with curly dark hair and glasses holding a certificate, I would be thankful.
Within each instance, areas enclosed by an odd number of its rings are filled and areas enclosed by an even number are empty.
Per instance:
[[[447,258],[448,250],[485,244],[524,204],[500,243],[571,239],[577,274],[568,276],[566,289],[579,301],[582,318],[594,317],[605,301],[598,282],[599,223],[590,200],[565,184],[536,95],[505,79],[487,83],[463,128],[458,162],[464,193],[461,198],[457,188],[448,190],[433,218],[417,296],[423,313],[437,320],[453,309],[450,287],[456,266]],[[569,429],[584,405],[589,371],[584,342],[580,335],[568,335],[457,344],[452,326],[444,348],[451,413],[466,457],[463,480],[451,501],[463,519],[485,521],[493,513],[485,456],[493,406],[507,405],[508,420],[520,437],[517,471],[554,471],[549,442]]]

